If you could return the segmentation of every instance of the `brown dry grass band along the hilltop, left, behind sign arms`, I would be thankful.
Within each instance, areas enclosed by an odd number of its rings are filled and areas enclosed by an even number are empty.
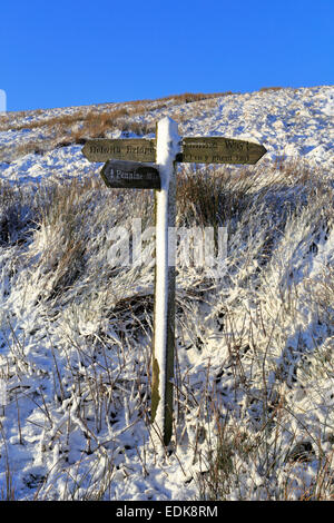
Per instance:
[[[78,108],[70,115],[42,117],[42,110],[20,111],[0,118],[1,130],[42,129],[43,138],[20,144],[14,148],[0,149],[0,160],[12,159],[28,154],[43,154],[56,147],[85,144],[90,138],[105,138],[108,132],[121,130],[145,136],[155,132],[155,118],[151,111],[166,109],[178,124],[196,118],[216,103],[216,98],[232,95],[232,91],[216,93],[173,95],[156,100],[135,100],[125,103],[110,103],[99,108]],[[193,103],[190,110],[180,111],[180,106]],[[198,103],[199,102],[199,103]],[[203,103],[200,103],[203,102]],[[29,117],[28,121],[22,119]],[[38,116],[38,119],[33,117]],[[144,116],[144,118],[143,118]],[[138,117],[141,117],[140,119]]]

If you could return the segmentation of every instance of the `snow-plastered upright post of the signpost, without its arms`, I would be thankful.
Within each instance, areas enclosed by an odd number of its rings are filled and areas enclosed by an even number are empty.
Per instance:
[[[161,189],[156,191],[156,274],[151,417],[168,445],[173,427],[175,347],[175,249],[169,230],[176,216],[176,156],[180,151],[177,124],[166,117],[157,124],[157,164]]]

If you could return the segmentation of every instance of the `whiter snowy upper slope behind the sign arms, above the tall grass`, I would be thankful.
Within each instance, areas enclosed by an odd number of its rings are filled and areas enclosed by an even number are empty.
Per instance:
[[[100,105],[94,106],[94,109],[105,111],[110,107],[111,105]],[[115,109],[119,107],[119,103],[115,105]],[[47,121],[60,115],[70,116],[78,111],[87,114],[88,110],[88,107],[50,109],[37,115],[36,111],[27,111],[27,115],[18,118],[10,114],[10,124],[14,128],[24,122],[31,125],[33,121]],[[224,136],[256,141],[266,147],[266,159],[302,157],[321,165],[323,169],[333,168],[334,88],[331,86],[230,95],[209,102],[203,100],[170,106],[167,109],[153,109],[135,120],[156,121],[165,115],[177,121],[181,119],[179,131],[183,136]],[[18,145],[35,140],[38,144],[47,142],[50,137],[43,129],[38,127],[1,131],[0,120],[0,161],[1,157],[6,158],[8,151]],[[120,131],[117,130],[109,134],[110,138],[119,136]],[[62,174],[66,177],[78,174],[85,176],[92,167],[80,150],[80,146],[69,146],[45,155],[27,155],[10,165],[2,162],[0,177],[11,182],[37,182]]]

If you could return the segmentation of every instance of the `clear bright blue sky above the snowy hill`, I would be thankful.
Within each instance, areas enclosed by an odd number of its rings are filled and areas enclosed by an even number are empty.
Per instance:
[[[334,0],[2,2],[8,110],[334,83]]]

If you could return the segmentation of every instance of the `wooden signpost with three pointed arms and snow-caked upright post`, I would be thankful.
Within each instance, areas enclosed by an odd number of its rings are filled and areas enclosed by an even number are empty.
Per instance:
[[[151,421],[168,445],[173,427],[175,351],[175,260],[168,230],[175,227],[176,164],[256,164],[266,149],[258,144],[223,137],[178,136],[177,124],[165,117],[156,140],[91,139],[82,154],[106,161],[101,176],[108,187],[155,189],[156,265],[153,347]]]

